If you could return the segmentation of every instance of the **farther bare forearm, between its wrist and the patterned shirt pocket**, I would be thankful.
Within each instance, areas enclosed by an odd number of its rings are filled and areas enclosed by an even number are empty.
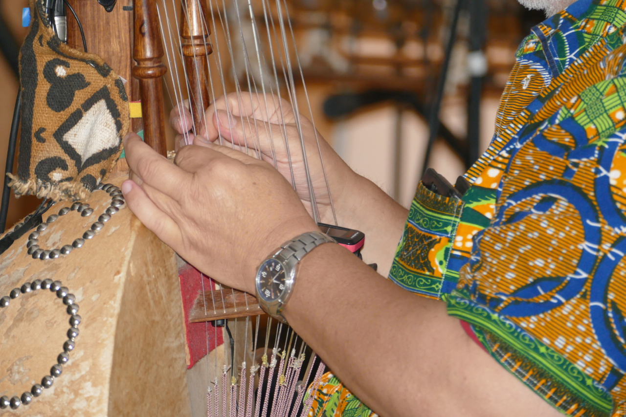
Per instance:
[[[367,264],[378,264],[379,274],[386,277],[402,237],[408,210],[376,184],[354,174],[336,206],[336,212],[340,226],[364,232],[363,260]]]

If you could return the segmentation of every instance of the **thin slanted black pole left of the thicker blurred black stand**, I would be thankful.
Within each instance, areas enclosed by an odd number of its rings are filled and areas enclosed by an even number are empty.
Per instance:
[[[462,6],[463,0],[456,0],[452,23],[450,24],[448,44],[446,44],[446,52],[444,54],[443,64],[441,64],[441,73],[439,74],[439,81],[437,83],[437,92],[434,95],[433,105],[431,105],[430,111],[428,112],[428,128],[430,134],[428,136],[428,144],[426,145],[426,154],[424,155],[422,173],[426,172],[426,169],[428,168],[428,160],[430,159],[430,154],[433,150],[433,144],[439,135],[439,110],[441,110],[441,100],[443,99],[444,88],[446,87],[448,66],[452,56],[452,48],[454,47],[454,43],[456,41],[456,28],[458,27],[459,14],[461,14]]]

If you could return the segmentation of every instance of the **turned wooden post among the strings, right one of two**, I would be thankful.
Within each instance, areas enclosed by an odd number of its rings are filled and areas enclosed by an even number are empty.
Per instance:
[[[189,102],[194,130],[199,133],[205,124],[204,111],[208,98],[208,55],[213,48],[208,35],[206,4],[202,0],[182,0],[180,38],[185,59],[185,73],[189,80]]]

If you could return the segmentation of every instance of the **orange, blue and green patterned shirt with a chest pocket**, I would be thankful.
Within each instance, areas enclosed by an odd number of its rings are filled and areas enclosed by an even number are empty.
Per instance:
[[[389,276],[577,417],[626,416],[625,28],[626,1],[578,0],[532,29],[471,188],[418,187]]]

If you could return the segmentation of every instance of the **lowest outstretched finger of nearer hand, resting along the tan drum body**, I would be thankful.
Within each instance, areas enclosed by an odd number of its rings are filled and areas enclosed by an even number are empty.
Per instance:
[[[178,246],[181,240],[178,225],[150,200],[139,185],[132,180],[126,180],[121,185],[121,192],[124,194],[128,208],[145,227],[170,247]]]

